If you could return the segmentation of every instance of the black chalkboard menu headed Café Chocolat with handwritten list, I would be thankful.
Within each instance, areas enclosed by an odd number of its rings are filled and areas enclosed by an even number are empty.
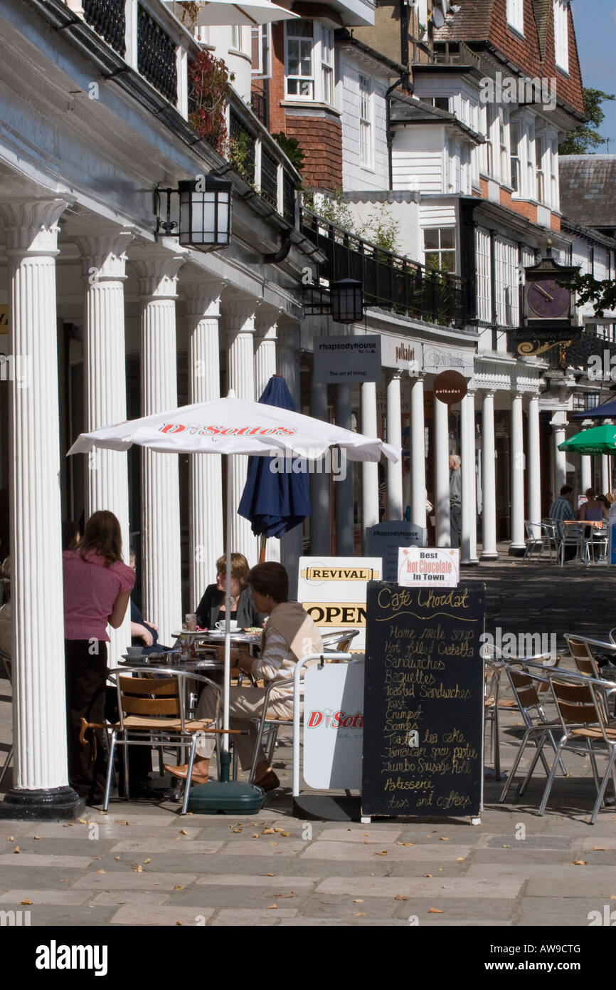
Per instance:
[[[369,582],[362,815],[480,814],[484,593]]]

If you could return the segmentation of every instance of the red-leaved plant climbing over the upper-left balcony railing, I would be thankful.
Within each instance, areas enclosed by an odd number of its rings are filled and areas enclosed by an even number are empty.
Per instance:
[[[220,151],[226,141],[224,105],[230,73],[221,58],[202,49],[189,67],[188,119],[197,133]]]

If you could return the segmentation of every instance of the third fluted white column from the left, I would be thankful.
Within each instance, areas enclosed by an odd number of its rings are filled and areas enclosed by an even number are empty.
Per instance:
[[[147,249],[138,256],[141,413],[151,416],[178,405],[175,301],[184,257]],[[141,470],[143,615],[169,645],[182,622],[178,455],[144,449]]]

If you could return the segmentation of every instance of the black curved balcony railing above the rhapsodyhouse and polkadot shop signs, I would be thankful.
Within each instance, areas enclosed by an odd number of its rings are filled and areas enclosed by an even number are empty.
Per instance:
[[[403,316],[464,328],[462,279],[426,271],[407,257],[384,250],[336,227],[308,210],[302,211],[302,231],[325,255],[321,275],[328,281],[354,278],[364,285],[364,302]]]

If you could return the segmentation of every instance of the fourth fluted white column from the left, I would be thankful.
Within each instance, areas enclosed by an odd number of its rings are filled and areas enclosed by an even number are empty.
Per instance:
[[[189,322],[189,402],[220,399],[220,292],[222,283],[188,282],[183,286]],[[222,474],[219,453],[190,457],[190,609],[197,608],[215,576],[224,550]]]

